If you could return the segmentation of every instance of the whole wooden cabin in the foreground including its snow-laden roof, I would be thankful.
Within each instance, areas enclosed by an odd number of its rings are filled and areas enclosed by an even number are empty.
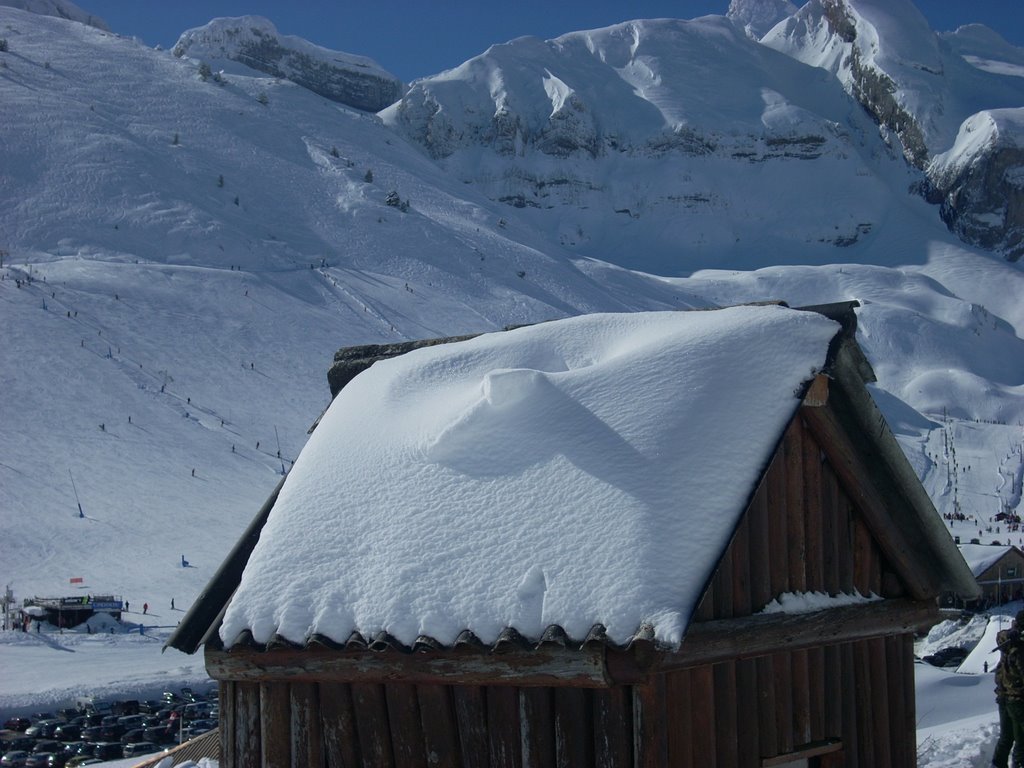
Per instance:
[[[205,646],[221,760],[915,765],[913,635],[977,585],[853,307],[341,355],[366,370],[169,641]]]

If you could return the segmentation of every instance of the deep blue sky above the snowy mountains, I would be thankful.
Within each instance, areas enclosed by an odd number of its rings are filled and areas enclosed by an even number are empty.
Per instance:
[[[283,34],[370,56],[409,82],[522,35],[548,39],[632,18],[725,13],[729,0],[78,0],[77,5],[117,33],[164,47],[216,16],[266,16]],[[980,22],[1024,46],[1022,0],[918,0],[916,5],[937,31]]]

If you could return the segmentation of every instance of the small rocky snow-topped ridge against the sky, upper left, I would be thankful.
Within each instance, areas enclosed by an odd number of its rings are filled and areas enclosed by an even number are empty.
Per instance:
[[[184,33],[173,52],[179,57],[239,61],[365,112],[383,110],[403,90],[401,81],[371,59],[279,35],[272,24],[259,16],[214,19]]]

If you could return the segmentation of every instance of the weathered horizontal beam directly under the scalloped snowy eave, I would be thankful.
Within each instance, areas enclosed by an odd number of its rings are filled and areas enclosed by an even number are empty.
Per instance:
[[[206,646],[207,672],[216,680],[289,680],[335,683],[574,686],[609,684],[603,646],[571,650],[543,647],[506,653],[345,651],[329,648]]]

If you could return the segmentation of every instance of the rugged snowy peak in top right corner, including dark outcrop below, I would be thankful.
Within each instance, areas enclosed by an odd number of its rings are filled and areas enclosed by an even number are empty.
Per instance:
[[[998,141],[961,138],[983,111],[1024,108],[1020,49],[980,25],[939,37],[910,0],[811,0],[761,42],[836,75],[928,171],[926,197],[942,203],[953,231],[1008,258],[1024,255],[1020,118],[1002,122]],[[950,157],[965,143],[969,157]],[[959,173],[948,172],[953,165]],[[989,182],[1001,177],[996,190]]]

